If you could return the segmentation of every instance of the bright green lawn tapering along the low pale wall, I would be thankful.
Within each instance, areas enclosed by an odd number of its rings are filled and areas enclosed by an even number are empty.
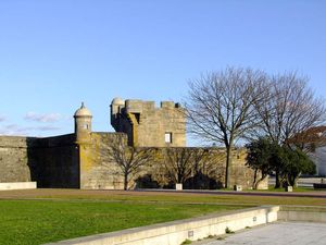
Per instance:
[[[243,206],[0,200],[0,244],[42,244]]]

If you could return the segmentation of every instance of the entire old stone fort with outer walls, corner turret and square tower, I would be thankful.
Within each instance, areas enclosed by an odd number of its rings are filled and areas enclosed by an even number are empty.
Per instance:
[[[92,132],[92,114],[83,103],[74,114],[73,134],[45,138],[0,136],[0,183],[36,181],[38,187],[122,189],[120,168],[103,154],[115,138],[124,138],[133,147],[155,147],[162,156],[168,148],[186,147],[185,109],[179,103],[163,101],[156,108],[153,101],[115,98],[110,114],[116,133]],[[223,183],[224,150],[216,149],[214,154],[214,177]],[[250,186],[253,172],[244,166],[246,152],[238,149],[233,155],[231,184]],[[133,176],[130,187],[136,186],[136,177],[152,174],[161,166],[158,161],[143,167]]]

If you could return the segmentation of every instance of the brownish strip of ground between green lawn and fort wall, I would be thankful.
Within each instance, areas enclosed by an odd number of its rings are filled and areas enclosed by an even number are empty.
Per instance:
[[[223,195],[223,193],[195,194],[177,192],[124,192],[124,191],[86,191],[86,189],[28,189],[0,192],[1,198],[53,198],[53,199],[84,199],[106,201],[139,201],[139,203],[184,203],[184,204],[229,204],[229,205],[308,205],[325,206],[325,198],[298,196],[259,196],[259,195]],[[309,195],[309,193],[304,193]]]

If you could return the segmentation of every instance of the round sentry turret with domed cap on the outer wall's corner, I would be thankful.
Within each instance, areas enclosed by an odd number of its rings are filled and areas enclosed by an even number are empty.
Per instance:
[[[82,107],[76,110],[75,114],[75,134],[77,143],[90,142],[91,133],[91,112],[82,102]]]

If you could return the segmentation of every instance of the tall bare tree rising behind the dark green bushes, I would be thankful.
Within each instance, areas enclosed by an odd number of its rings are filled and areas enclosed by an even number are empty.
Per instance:
[[[260,114],[261,125],[256,133],[267,135],[278,145],[299,145],[299,135],[308,138],[309,128],[322,125],[325,122],[324,100],[315,97],[308,87],[308,78],[299,77],[289,72],[269,78],[265,87],[263,100],[255,102]],[[302,134],[303,133],[303,134]],[[293,140],[299,142],[293,142]],[[315,137],[316,140],[319,140]],[[309,148],[306,148],[309,149]],[[280,187],[279,173],[276,171],[276,186]]]

